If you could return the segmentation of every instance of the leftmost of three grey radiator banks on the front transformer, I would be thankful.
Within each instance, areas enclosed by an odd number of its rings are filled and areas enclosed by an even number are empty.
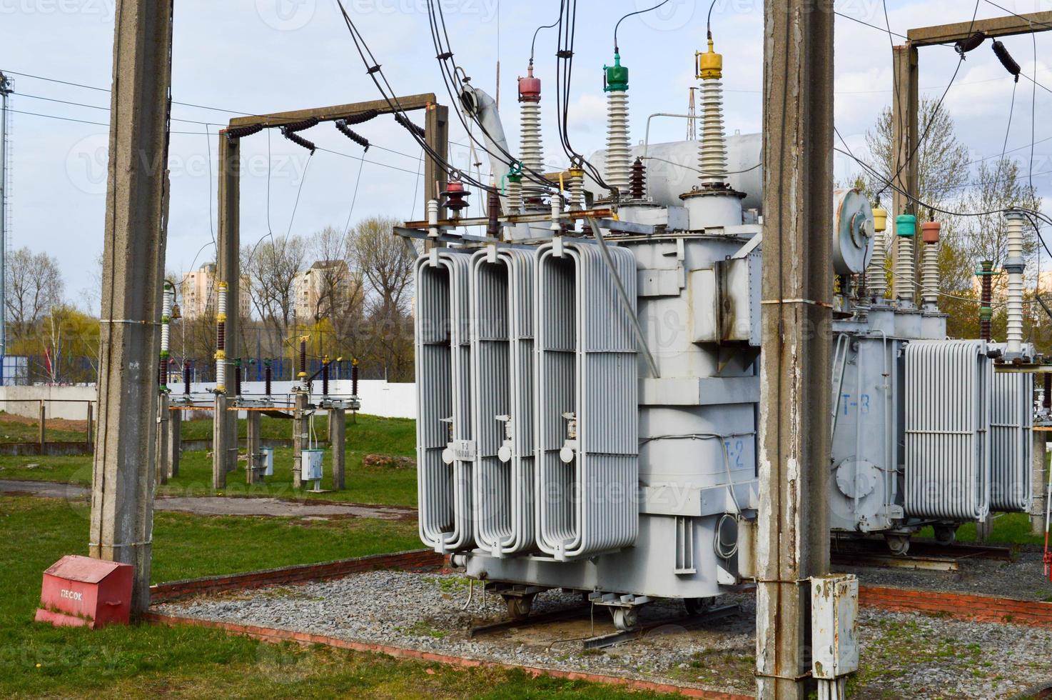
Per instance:
[[[473,546],[470,256],[433,248],[417,261],[417,483],[420,537],[436,552]]]

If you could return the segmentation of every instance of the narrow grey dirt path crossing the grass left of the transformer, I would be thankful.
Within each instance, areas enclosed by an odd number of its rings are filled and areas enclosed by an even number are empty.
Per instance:
[[[31,494],[44,498],[81,500],[90,495],[85,486],[54,481],[14,481],[0,479],[0,493]],[[278,516],[291,518],[378,518],[380,520],[416,520],[417,508],[405,505],[370,505],[366,503],[319,503],[308,500],[290,501],[278,498],[225,498],[222,496],[158,496],[157,511],[193,513],[203,516]]]

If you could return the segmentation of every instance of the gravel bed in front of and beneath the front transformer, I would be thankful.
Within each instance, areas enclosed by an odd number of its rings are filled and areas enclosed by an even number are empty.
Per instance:
[[[572,606],[576,596],[547,592],[534,612]],[[467,637],[467,627],[503,618],[504,604],[457,575],[373,572],[303,586],[166,603],[158,612],[391,644],[477,659],[671,680],[713,691],[753,692],[755,606],[752,594],[726,596],[739,615],[685,631],[668,625],[642,640],[586,652],[588,618]],[[680,614],[674,601],[651,603],[641,619]],[[1052,678],[1052,631],[863,611],[863,668],[851,681],[864,698],[1008,698]],[[594,634],[613,632],[595,612]]]

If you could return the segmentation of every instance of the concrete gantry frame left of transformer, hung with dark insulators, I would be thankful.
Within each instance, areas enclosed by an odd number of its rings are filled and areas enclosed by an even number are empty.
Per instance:
[[[269,115],[237,117],[227,128],[220,131],[219,138],[219,240],[217,241],[217,281],[226,282],[229,303],[226,311],[226,358],[232,362],[238,357],[240,336],[241,299],[241,148],[240,138],[228,136],[232,128],[262,126],[277,128],[286,124],[317,118],[319,122],[347,119],[364,112],[376,111],[378,115],[398,114],[425,109],[424,140],[434,153],[445,156],[449,151],[449,108],[438,103],[433,93],[396,97],[390,101],[370,100],[338,104],[311,109],[279,112]],[[426,156],[426,154],[425,154]],[[441,200],[440,193],[446,188],[448,173],[430,157],[424,159],[424,203]],[[445,218],[440,211],[440,218]],[[217,397],[216,427],[213,433],[213,481],[216,487],[226,482],[226,473],[238,464],[237,417],[235,411],[226,411],[226,398]],[[219,420],[219,416],[225,416]]]

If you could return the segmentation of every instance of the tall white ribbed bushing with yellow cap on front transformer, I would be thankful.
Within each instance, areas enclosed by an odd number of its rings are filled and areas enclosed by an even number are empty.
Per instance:
[[[699,142],[699,182],[680,196],[687,206],[692,231],[742,223],[742,193],[727,184],[727,140],[723,125],[723,56],[709,49],[694,54],[696,78],[702,81],[702,138]]]

